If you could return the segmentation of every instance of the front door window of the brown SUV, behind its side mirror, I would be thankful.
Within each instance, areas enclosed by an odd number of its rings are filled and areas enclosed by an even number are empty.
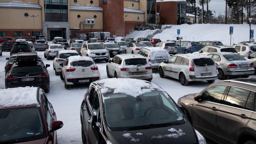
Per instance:
[[[222,96],[225,92],[225,89],[227,88],[226,85],[215,85],[203,92],[203,96],[201,100],[221,103],[222,102]]]

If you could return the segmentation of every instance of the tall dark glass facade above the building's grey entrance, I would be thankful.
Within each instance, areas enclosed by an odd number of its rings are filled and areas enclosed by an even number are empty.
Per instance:
[[[68,0],[44,0],[45,22],[68,22]]]

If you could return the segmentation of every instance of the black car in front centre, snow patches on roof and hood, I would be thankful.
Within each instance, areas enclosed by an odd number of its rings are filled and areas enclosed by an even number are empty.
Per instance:
[[[206,144],[182,111],[167,92],[148,81],[95,81],[80,107],[82,142]]]

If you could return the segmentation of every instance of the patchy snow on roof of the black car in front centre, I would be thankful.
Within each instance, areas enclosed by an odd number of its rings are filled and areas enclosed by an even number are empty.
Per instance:
[[[159,86],[140,79],[110,78],[94,81],[93,83],[99,85],[102,94],[123,93],[137,97],[153,90],[164,91]]]

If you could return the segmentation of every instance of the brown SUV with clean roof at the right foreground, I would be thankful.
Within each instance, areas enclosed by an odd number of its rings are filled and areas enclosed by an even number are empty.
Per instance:
[[[217,143],[256,143],[256,78],[223,80],[178,104],[195,129]]]

